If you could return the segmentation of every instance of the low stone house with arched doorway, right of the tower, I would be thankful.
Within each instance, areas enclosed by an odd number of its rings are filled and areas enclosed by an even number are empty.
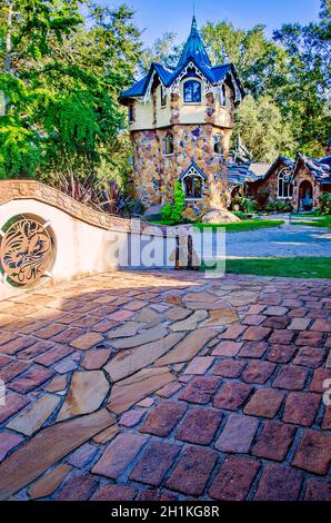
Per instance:
[[[262,205],[278,200],[291,204],[294,211],[317,209],[319,197],[331,193],[331,156],[280,156],[263,177],[247,185],[248,196]]]

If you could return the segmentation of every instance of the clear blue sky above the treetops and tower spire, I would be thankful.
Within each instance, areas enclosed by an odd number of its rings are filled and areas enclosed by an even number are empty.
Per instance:
[[[134,9],[147,46],[165,31],[175,32],[179,42],[187,38],[193,0],[117,0],[114,3],[123,1]],[[320,9],[319,0],[195,0],[194,3],[199,27],[208,20],[227,20],[243,29],[264,23],[269,36],[284,22],[317,20]]]

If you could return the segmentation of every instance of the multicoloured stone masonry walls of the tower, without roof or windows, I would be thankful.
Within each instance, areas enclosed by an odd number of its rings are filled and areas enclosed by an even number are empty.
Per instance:
[[[202,198],[187,200],[184,215],[190,218],[209,209],[227,207],[229,195],[223,158],[229,154],[232,127],[215,125],[217,110],[212,95],[207,96],[204,124],[180,124],[182,105],[179,96],[172,95],[169,127],[131,132],[134,150],[133,182],[137,196],[148,206],[164,205],[172,200],[173,184],[192,164],[197,165],[204,174],[205,181]],[[164,155],[164,138],[170,131],[173,136],[173,154]],[[214,137],[220,135],[223,156],[217,155],[213,148]]]

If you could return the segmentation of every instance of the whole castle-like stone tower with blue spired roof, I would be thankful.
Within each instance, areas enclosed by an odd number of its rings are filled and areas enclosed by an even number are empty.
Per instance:
[[[193,17],[177,67],[152,63],[120,97],[129,108],[134,187],[147,206],[171,201],[181,180],[187,217],[227,207],[224,158],[243,96],[231,63],[211,65]]]

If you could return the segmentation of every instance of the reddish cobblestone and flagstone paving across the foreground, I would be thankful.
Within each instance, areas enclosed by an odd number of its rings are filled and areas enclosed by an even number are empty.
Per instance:
[[[0,303],[0,499],[330,500],[331,282],[112,273]]]

